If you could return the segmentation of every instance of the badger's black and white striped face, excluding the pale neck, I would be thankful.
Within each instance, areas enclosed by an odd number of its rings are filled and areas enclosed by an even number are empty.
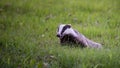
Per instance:
[[[57,30],[57,37],[61,38],[62,34],[65,32],[65,30],[69,29],[69,28],[71,28],[71,25],[69,25],[69,24],[61,24],[58,27],[58,30]]]

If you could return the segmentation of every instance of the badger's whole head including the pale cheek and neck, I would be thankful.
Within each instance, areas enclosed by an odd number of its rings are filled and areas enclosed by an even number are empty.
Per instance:
[[[70,24],[61,24],[57,30],[57,37],[62,38],[65,35],[76,36],[75,31],[72,29]]]

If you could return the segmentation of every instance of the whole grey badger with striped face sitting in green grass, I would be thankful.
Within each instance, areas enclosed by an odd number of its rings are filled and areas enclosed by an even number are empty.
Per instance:
[[[74,30],[70,24],[60,24],[57,30],[57,37],[60,39],[61,44],[74,43],[82,47],[102,48],[100,43],[88,39],[77,30]]]

